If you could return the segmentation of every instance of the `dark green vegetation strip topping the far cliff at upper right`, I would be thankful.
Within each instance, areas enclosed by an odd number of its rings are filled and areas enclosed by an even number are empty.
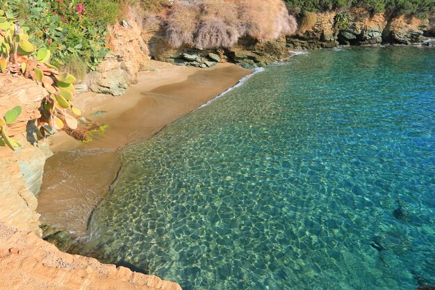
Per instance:
[[[318,12],[331,9],[363,7],[372,13],[416,14],[425,17],[434,13],[435,0],[285,0],[289,10],[295,14],[306,11]]]

